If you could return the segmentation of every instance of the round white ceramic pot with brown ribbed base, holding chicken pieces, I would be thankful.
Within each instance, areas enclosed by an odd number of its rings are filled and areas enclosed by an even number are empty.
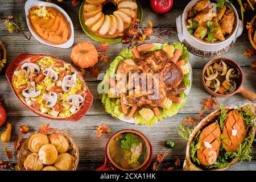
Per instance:
[[[188,17],[188,11],[191,9],[199,0],[192,0],[185,7],[183,14],[176,18],[177,36],[180,42],[186,42],[188,51],[198,56],[213,57],[219,56],[222,53],[228,51],[228,49],[236,42],[237,38],[242,34],[243,22],[239,19],[236,8],[231,5],[230,9],[234,11],[236,16],[236,22],[234,23],[234,30],[224,41],[216,43],[204,42],[189,34],[185,21]],[[229,1],[228,1],[229,2]]]

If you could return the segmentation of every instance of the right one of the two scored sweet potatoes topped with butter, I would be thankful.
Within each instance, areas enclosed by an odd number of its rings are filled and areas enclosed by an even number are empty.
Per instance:
[[[222,144],[225,150],[236,152],[246,136],[245,121],[236,109],[226,115],[222,133],[224,137]]]

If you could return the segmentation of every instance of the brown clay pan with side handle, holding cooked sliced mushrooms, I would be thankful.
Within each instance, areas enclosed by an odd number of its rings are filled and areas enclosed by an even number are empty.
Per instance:
[[[240,84],[237,85],[236,90],[233,93],[230,93],[230,94],[215,93],[212,90],[210,90],[208,88],[208,86],[205,84],[204,74],[205,74],[205,71],[207,70],[207,67],[209,67],[210,64],[213,64],[213,63],[216,63],[216,62],[220,62],[221,60],[226,62],[226,63],[231,64],[234,68],[236,68],[241,73]],[[256,99],[256,93],[254,93],[253,91],[248,90],[248,89],[243,87],[244,76],[243,76],[243,71],[242,71],[242,68],[240,67],[240,65],[238,65],[235,61],[230,60],[230,59],[228,59],[226,57],[217,57],[217,58],[215,58],[213,60],[210,60],[204,66],[204,69],[203,69],[203,72],[202,72],[202,75],[201,75],[201,80],[202,80],[202,84],[203,84],[205,90],[207,90],[207,92],[209,94],[211,94],[212,96],[215,96],[215,97],[230,97],[230,96],[233,96],[236,93],[241,93],[243,95],[243,97],[245,97],[249,101],[254,101]]]

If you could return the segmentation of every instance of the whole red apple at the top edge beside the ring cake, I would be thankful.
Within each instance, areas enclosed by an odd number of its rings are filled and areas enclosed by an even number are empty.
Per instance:
[[[150,6],[155,13],[164,14],[171,10],[173,0],[150,0]]]

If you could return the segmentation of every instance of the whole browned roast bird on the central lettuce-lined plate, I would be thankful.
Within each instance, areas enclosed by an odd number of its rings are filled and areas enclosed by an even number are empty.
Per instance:
[[[185,89],[183,72],[163,50],[146,52],[141,59],[122,61],[115,76],[117,93],[130,106],[158,107],[164,98]]]

